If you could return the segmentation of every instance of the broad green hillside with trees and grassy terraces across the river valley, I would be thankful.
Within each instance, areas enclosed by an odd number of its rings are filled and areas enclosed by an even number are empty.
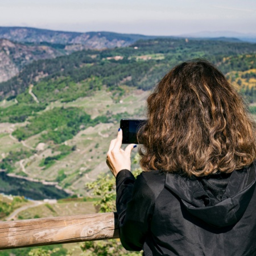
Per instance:
[[[143,117],[160,78],[198,57],[216,64],[247,102],[256,101],[256,44],[236,40],[139,40],[26,65],[0,84],[2,170],[85,194],[85,181],[108,171],[119,119]]]

